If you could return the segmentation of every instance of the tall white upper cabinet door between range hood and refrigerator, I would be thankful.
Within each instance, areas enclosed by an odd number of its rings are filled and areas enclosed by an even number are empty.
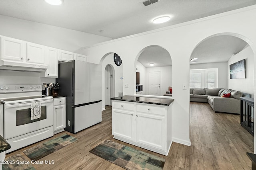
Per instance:
[[[46,77],[58,77],[58,49],[46,48]]]

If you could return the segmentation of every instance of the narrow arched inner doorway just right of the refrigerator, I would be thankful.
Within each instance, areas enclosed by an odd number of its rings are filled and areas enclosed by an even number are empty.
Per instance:
[[[105,106],[109,105],[111,106],[112,102],[110,98],[112,98],[112,93],[113,93],[113,69],[112,67],[108,64],[105,67]]]

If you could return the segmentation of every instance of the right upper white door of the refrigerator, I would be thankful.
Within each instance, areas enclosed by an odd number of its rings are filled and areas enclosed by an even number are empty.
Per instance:
[[[90,102],[102,100],[102,65],[90,63]]]

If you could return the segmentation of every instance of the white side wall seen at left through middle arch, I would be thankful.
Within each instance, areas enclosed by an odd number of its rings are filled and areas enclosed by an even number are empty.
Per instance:
[[[136,64],[136,72],[140,73],[140,85],[142,86],[142,91],[140,92],[136,92],[136,94],[146,94],[146,89],[148,86],[148,83],[146,83],[146,67],[144,65],[142,65],[140,62],[137,62]],[[135,78],[136,78],[136,74],[134,74]],[[135,88],[135,85],[134,85]],[[136,88],[135,88],[136,90]]]

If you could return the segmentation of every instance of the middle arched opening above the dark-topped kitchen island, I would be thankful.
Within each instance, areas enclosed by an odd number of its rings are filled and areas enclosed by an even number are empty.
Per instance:
[[[166,95],[168,87],[172,87],[170,53],[164,47],[150,45],[138,53],[135,61],[134,94],[154,97]]]

